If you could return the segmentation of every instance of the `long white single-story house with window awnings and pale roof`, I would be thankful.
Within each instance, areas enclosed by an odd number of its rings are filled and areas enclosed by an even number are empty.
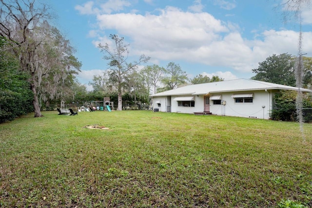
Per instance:
[[[154,111],[159,112],[269,119],[274,95],[280,90],[298,91],[298,88],[242,78],[188,85],[150,96]]]

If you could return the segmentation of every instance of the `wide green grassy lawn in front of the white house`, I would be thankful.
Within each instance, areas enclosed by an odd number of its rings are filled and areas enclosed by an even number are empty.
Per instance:
[[[312,124],[57,114],[0,124],[0,207],[312,207]]]

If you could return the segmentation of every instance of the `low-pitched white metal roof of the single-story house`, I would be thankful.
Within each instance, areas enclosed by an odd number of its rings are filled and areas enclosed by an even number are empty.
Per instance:
[[[256,91],[256,90],[295,90],[297,87],[287,85],[274,84],[270,82],[257,81],[252,79],[233,79],[220,82],[209,82],[203,84],[188,85],[174,90],[168,90],[161,93],[150,95],[169,96],[169,95],[207,95],[209,93],[224,93],[224,92],[242,92],[242,91]],[[302,92],[312,92],[308,89],[300,89]]]

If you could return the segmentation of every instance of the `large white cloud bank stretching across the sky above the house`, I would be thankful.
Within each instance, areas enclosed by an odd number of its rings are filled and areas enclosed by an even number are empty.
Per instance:
[[[251,72],[273,54],[297,53],[297,32],[267,30],[246,39],[237,24],[215,19],[206,12],[166,7],[157,15],[119,13],[97,18],[98,30],[114,30],[120,37],[129,38],[131,55],[145,54],[154,63],[183,60]],[[93,44],[97,47],[98,43],[111,45],[112,40],[98,37]],[[303,52],[312,54],[311,32],[303,33]]]

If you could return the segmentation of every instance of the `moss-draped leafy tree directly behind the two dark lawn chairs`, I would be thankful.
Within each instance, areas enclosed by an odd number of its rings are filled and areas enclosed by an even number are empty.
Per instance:
[[[61,108],[64,108],[65,99],[72,99],[75,94],[72,85],[81,63],[73,56],[75,49],[70,46],[69,40],[57,28],[46,23],[42,29],[44,33],[41,36],[45,36],[45,44],[40,52],[45,56],[39,60],[41,72],[36,84],[39,102],[60,98]]]

